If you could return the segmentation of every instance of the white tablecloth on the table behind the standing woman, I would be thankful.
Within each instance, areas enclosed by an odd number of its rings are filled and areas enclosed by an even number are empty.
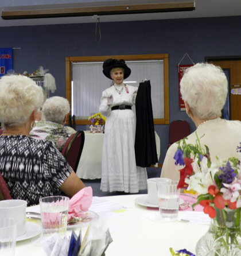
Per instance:
[[[103,148],[103,133],[92,134],[88,131],[84,132],[85,142],[83,152],[80,157],[77,176],[81,179],[101,179],[102,173],[102,148]],[[157,157],[160,158],[160,138],[155,131]]]

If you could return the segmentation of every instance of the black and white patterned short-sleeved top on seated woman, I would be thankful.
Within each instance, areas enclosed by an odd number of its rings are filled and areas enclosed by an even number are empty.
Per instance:
[[[0,136],[0,172],[13,199],[30,206],[60,195],[72,168],[50,141],[15,135]]]

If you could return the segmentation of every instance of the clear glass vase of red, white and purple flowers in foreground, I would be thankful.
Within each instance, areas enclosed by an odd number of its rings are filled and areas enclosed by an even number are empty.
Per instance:
[[[211,218],[208,232],[197,243],[196,256],[241,255],[240,160],[216,156],[217,161],[211,162],[208,146],[201,148],[200,139],[197,137],[196,145],[189,144],[187,138],[177,142],[174,155],[175,164],[184,166],[177,187],[196,191],[199,195],[192,208],[203,205]]]

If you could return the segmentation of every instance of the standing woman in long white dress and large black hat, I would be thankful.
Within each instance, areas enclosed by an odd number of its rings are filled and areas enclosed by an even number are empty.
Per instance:
[[[138,87],[127,86],[123,80],[131,69],[124,60],[108,59],[103,73],[114,84],[102,92],[100,113],[107,117],[102,155],[102,191],[138,193],[147,188],[146,168],[135,164],[135,104]]]

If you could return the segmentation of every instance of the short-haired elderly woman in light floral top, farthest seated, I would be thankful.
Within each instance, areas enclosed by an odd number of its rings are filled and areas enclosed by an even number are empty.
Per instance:
[[[76,133],[73,128],[64,126],[69,111],[70,107],[67,99],[59,96],[46,99],[42,107],[45,121],[36,122],[36,127],[31,131],[30,137],[47,139],[62,152],[69,136]]]

